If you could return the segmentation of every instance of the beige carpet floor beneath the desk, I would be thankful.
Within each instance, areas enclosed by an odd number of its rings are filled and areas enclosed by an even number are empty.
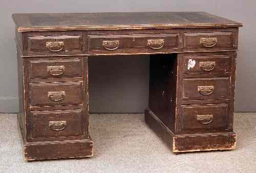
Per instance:
[[[92,114],[94,157],[24,161],[15,114],[0,114],[0,172],[256,172],[256,113],[236,113],[238,149],[173,155],[143,114]]]

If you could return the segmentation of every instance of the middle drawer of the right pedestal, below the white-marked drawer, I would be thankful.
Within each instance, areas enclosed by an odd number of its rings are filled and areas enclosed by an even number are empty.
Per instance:
[[[229,99],[229,77],[183,79],[182,100]]]

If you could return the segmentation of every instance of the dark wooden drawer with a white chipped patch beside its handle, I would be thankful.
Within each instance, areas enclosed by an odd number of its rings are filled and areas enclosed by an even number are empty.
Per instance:
[[[231,70],[229,55],[184,56],[182,72],[186,73],[227,73]]]

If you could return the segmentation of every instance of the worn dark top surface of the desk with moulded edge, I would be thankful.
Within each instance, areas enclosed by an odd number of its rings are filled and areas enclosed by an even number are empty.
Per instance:
[[[205,12],[16,13],[12,17],[18,32],[242,27]]]

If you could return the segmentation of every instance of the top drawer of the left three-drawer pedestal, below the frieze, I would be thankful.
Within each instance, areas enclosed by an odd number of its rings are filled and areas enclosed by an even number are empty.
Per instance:
[[[29,79],[82,77],[82,59],[29,60]]]

